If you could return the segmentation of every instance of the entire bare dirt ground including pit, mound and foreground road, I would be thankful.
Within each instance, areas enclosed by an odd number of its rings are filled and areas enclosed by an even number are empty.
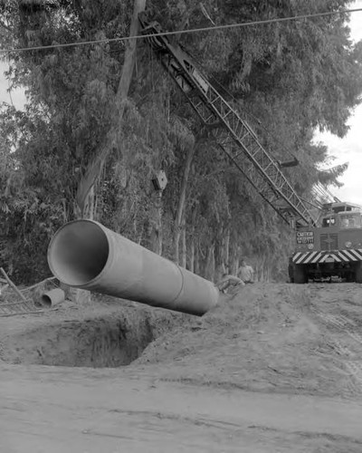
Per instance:
[[[362,451],[358,284],[0,317],[0,452]],[[88,368],[85,368],[88,367]]]

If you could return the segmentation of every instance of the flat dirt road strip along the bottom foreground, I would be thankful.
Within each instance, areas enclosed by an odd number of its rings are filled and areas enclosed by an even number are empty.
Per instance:
[[[6,453],[362,450],[362,402],[155,381],[116,370],[3,366]]]

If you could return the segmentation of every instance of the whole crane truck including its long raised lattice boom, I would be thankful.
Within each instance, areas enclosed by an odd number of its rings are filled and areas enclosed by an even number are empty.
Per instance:
[[[282,172],[283,165],[262,146],[250,124],[215,90],[179,44],[170,43],[160,24],[138,15],[158,61],[186,96],[215,142],[278,215],[295,230],[291,283],[339,279],[362,283],[362,207],[334,201],[307,207]]]

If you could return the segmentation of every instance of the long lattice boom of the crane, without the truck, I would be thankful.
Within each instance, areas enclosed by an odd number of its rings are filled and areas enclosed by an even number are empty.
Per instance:
[[[151,35],[147,41],[160,63],[204,124],[210,127],[214,140],[262,198],[288,224],[294,220],[299,226],[316,226],[317,220],[281,172],[278,161],[262,147],[251,126],[214,89],[192,58],[161,34],[157,22],[149,22],[144,13],[139,14],[139,22],[142,33]]]

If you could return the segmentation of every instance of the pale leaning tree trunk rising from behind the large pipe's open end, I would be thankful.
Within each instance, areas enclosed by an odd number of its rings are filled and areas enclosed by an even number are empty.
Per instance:
[[[138,34],[138,14],[145,10],[147,0],[134,0],[133,16],[130,24],[129,36],[136,36]],[[125,59],[122,67],[122,73],[119,80],[119,88],[116,93],[116,107],[114,111],[114,121],[110,130],[103,142],[100,145],[100,150],[95,159],[90,162],[88,169],[82,176],[77,190],[76,196],[76,217],[92,216],[90,214],[90,207],[93,203],[88,198],[90,197],[91,189],[100,177],[104,164],[110,155],[113,146],[119,133],[119,124],[122,122],[123,113],[127,97],[129,95],[129,85],[132,80],[132,73],[136,62],[136,46],[137,40],[129,40],[126,43]]]

